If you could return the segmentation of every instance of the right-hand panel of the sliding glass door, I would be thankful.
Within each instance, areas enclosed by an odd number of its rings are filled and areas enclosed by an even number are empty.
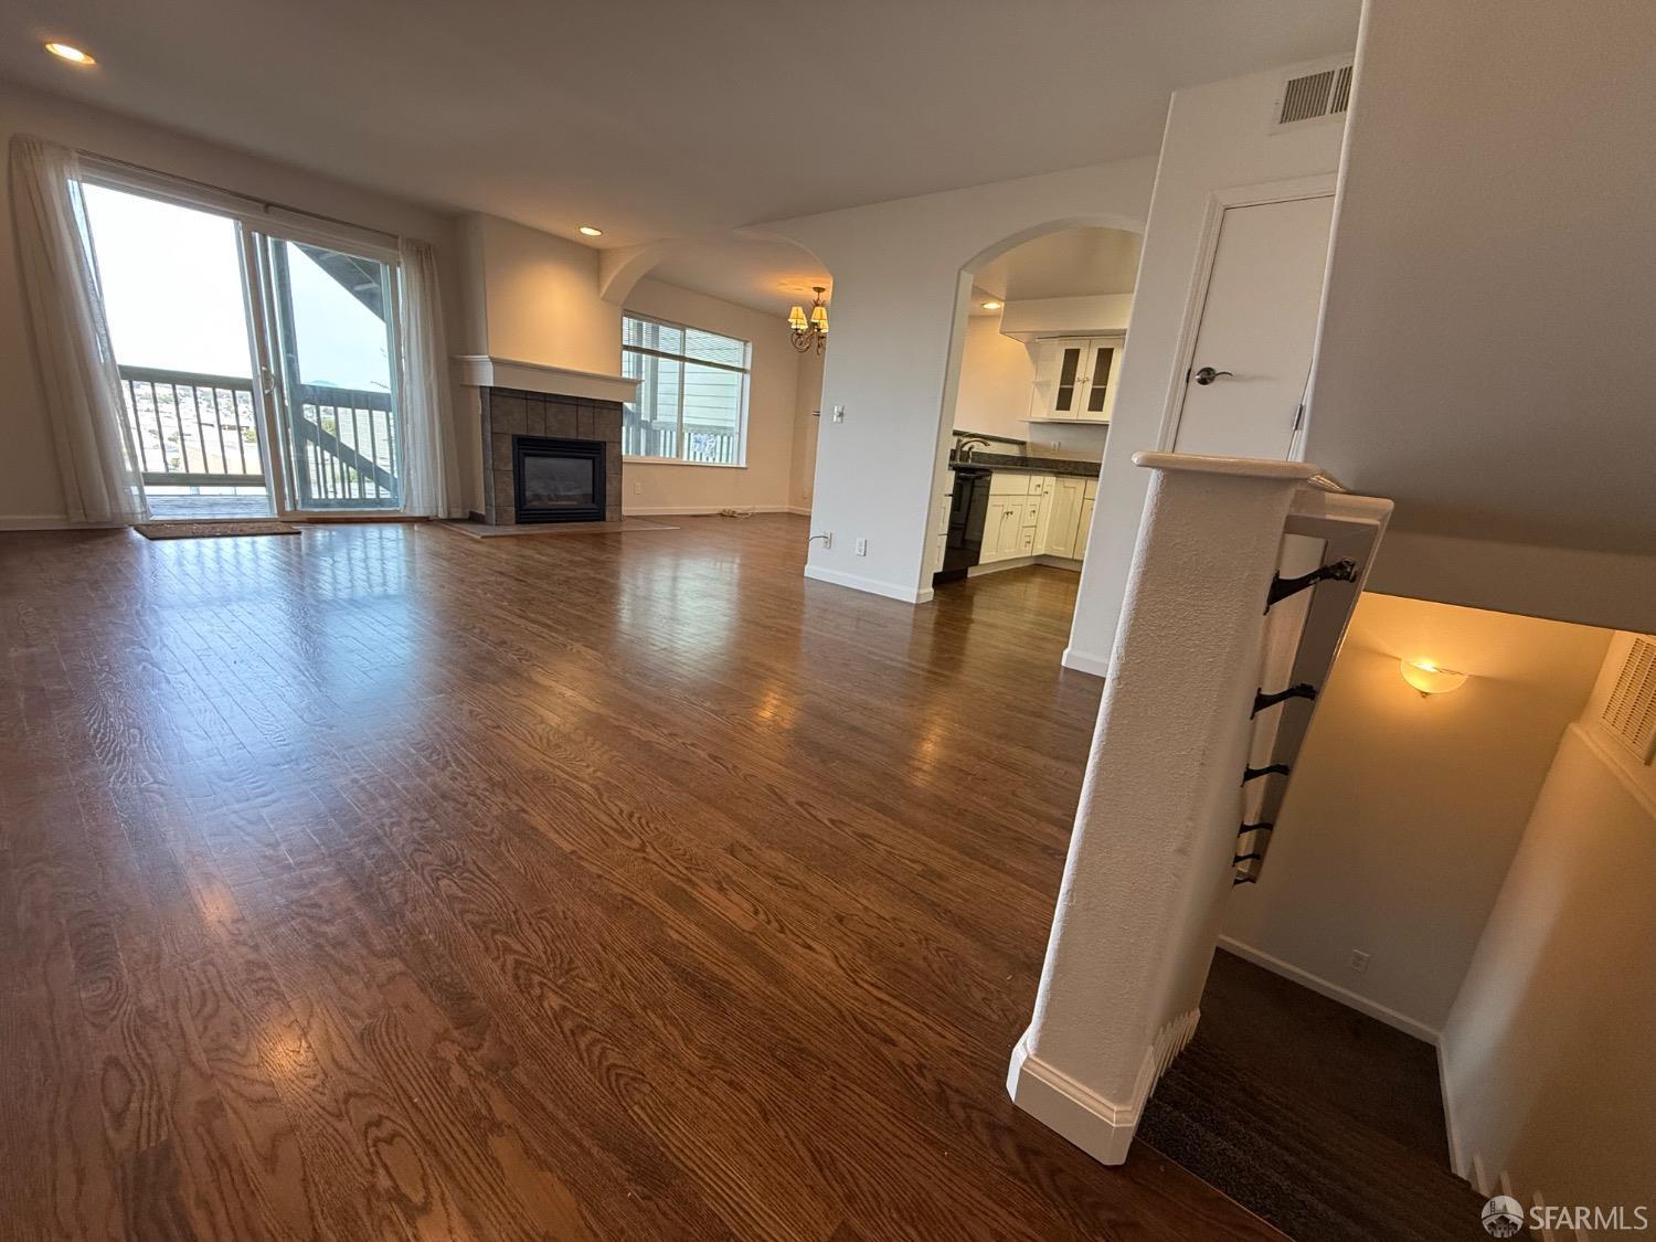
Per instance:
[[[381,260],[257,237],[293,507],[402,507],[396,270]]]

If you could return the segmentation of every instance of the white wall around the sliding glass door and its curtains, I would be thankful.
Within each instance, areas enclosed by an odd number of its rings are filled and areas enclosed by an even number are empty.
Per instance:
[[[230,147],[202,142],[114,113],[0,84],[0,147],[13,134],[111,156],[179,177],[265,199],[368,229],[431,242],[444,283],[450,339],[460,339],[459,265],[447,215],[416,204],[346,185],[288,164],[275,164]],[[8,166],[0,169],[0,525],[66,522],[51,427],[40,396],[35,351],[23,308],[12,222]],[[455,392],[460,409],[460,392]],[[464,426],[465,419],[459,419]],[[459,432],[465,477],[477,475],[479,434]]]

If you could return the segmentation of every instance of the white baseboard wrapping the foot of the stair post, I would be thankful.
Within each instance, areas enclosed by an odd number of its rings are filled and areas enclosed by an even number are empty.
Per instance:
[[[1182,1013],[1158,1032],[1144,1050],[1133,1095],[1113,1101],[1093,1088],[1071,1078],[1055,1065],[1048,1065],[1030,1052],[1028,1032],[1012,1050],[1007,1068],[1007,1095],[1012,1103],[1033,1116],[1048,1129],[1057,1131],[1100,1164],[1121,1164],[1133,1146],[1144,1101],[1156,1090],[1156,1081],[1196,1035],[1201,1010]]]

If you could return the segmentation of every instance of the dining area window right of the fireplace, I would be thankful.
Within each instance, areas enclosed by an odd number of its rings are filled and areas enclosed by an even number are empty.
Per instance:
[[[623,455],[745,465],[750,354],[734,336],[624,315],[621,373],[641,383],[623,407]]]

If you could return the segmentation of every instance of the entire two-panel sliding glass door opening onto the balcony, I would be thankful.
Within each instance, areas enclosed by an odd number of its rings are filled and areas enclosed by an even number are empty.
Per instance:
[[[396,250],[195,187],[83,192],[152,517],[402,508]]]

